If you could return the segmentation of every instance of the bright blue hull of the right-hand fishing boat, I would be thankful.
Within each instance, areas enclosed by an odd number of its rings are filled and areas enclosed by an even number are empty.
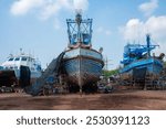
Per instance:
[[[151,57],[143,58],[131,63],[120,71],[123,78],[129,77],[135,79],[144,79],[146,75],[158,76],[163,71],[163,63],[160,60]]]

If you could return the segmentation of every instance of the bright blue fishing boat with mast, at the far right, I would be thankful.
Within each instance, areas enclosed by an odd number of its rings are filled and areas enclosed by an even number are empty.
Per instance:
[[[151,51],[158,45],[151,43],[149,34],[146,35],[146,45],[141,44],[127,44],[124,47],[123,61],[124,66],[120,69],[121,77],[123,79],[142,79],[145,80],[146,76],[152,78],[158,77],[163,71],[164,53],[159,56],[151,54]]]

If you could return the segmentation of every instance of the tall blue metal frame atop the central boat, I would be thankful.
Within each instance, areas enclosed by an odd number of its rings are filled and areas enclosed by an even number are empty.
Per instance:
[[[91,46],[92,39],[92,19],[82,20],[81,13],[76,13],[75,20],[66,19],[69,47],[74,47],[77,44]],[[84,34],[87,37],[84,37]],[[74,37],[76,35],[76,37]],[[73,41],[74,40],[74,41]],[[87,40],[85,42],[85,40]]]

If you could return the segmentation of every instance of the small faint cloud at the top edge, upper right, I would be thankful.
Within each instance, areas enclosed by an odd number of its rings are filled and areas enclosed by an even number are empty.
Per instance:
[[[144,12],[146,17],[151,15],[158,7],[158,0],[151,0],[149,2],[142,3],[138,9]]]

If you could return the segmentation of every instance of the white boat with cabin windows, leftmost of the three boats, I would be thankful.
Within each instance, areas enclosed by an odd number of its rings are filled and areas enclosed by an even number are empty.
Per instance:
[[[41,76],[39,60],[20,51],[0,65],[0,87],[25,87]]]

